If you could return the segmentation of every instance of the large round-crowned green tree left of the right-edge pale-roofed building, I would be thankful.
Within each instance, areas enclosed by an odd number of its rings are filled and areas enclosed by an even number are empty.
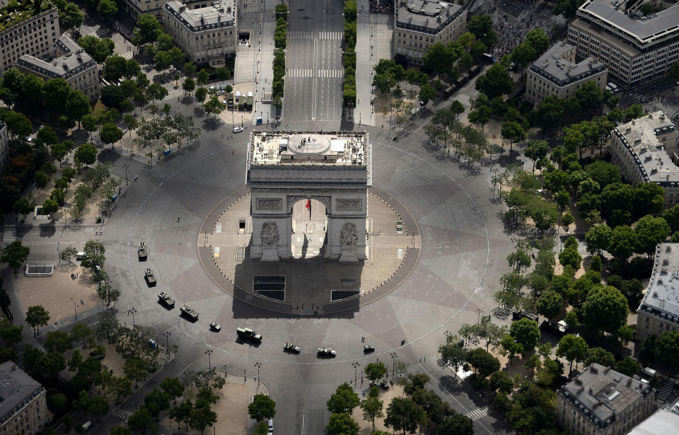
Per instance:
[[[627,323],[627,299],[613,286],[594,286],[582,306],[584,324],[592,332],[615,332]]]

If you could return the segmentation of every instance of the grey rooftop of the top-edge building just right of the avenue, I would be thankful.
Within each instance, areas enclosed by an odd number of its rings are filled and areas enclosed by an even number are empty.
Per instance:
[[[396,27],[436,35],[464,11],[447,1],[398,0]]]

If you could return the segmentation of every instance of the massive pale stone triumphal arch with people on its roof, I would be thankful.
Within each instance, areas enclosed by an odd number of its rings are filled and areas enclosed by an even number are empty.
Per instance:
[[[366,132],[252,132],[245,183],[250,187],[250,257],[292,257],[293,206],[315,199],[325,207],[325,258],[367,257],[368,186],[372,149]]]

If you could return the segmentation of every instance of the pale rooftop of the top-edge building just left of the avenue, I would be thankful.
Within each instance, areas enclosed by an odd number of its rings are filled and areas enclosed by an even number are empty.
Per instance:
[[[236,1],[212,2],[207,8],[188,9],[180,1],[168,1],[166,10],[192,32],[236,25]]]

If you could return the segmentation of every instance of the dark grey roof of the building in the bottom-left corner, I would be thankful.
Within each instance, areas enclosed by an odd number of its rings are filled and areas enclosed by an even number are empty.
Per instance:
[[[44,388],[12,361],[0,364],[0,424],[12,417]]]

